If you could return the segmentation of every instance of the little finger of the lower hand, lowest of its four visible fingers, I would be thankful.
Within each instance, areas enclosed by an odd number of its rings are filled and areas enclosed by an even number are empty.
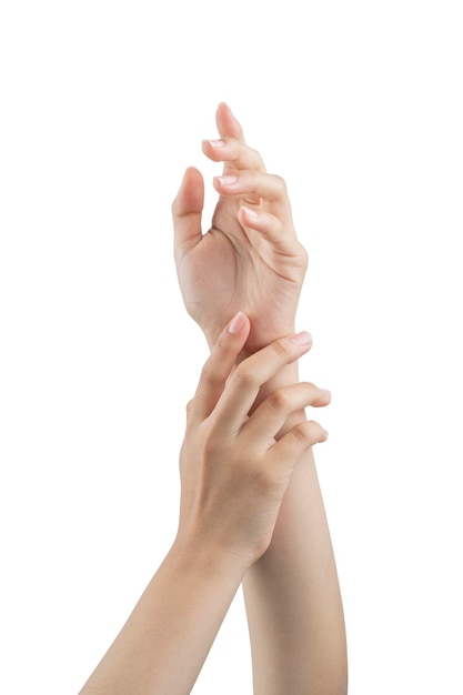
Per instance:
[[[313,446],[328,439],[326,430],[313,420],[300,422],[281,437],[266,455],[266,463],[274,471],[281,470],[283,476],[288,475],[301,455]]]

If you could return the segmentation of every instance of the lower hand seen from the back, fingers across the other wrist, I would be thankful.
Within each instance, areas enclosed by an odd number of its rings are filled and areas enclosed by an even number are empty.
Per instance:
[[[271,542],[295,462],[326,439],[303,415],[278,441],[276,435],[291,413],[330,402],[328,391],[298,383],[266,396],[250,415],[262,385],[311,345],[308,333],[286,336],[234,366],[250,328],[240,312],[222,331],[188,406],[175,541],[245,567]]]

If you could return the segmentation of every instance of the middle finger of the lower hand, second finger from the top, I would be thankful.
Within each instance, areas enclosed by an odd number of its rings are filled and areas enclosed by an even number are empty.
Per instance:
[[[295,362],[312,345],[310,333],[283,338],[254,353],[236,366],[215,409],[224,430],[239,432],[260,389],[286,364]]]

